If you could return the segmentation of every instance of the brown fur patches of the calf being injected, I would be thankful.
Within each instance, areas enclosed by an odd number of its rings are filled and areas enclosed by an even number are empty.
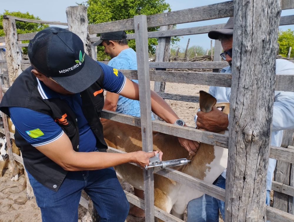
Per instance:
[[[210,106],[212,107],[215,104],[215,99],[213,98],[210,103]],[[218,103],[218,106],[225,106],[225,111],[227,111],[228,113],[228,103]],[[107,119],[101,119],[101,122],[103,124],[104,138],[109,147],[113,147],[125,152],[142,150],[140,128]],[[194,157],[191,157],[189,156],[188,151],[181,147],[177,137],[153,131],[153,150],[162,151],[163,160],[180,158],[192,159],[192,162],[190,164],[174,168],[202,180],[205,178],[207,172],[209,172],[210,170],[214,170],[210,169],[210,167],[208,166],[216,157],[214,153],[215,149],[212,145],[201,143],[196,155]],[[116,166],[115,170],[118,174],[119,179],[123,179],[129,182],[131,185],[134,186],[134,188],[143,189],[142,169],[134,165],[123,164]],[[218,175],[220,175],[220,173]],[[206,182],[212,183],[216,178],[205,179]],[[155,174],[154,205],[164,211],[169,212],[174,203],[168,203],[171,202],[169,200],[170,197],[168,193],[174,192],[173,190],[176,188],[177,182]],[[182,215],[177,216],[182,217]]]

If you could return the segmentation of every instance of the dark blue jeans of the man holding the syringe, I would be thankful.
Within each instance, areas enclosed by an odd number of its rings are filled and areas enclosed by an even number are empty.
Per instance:
[[[124,222],[129,203],[112,167],[68,172],[57,192],[29,175],[43,222],[77,222],[81,191],[94,203],[100,222]]]

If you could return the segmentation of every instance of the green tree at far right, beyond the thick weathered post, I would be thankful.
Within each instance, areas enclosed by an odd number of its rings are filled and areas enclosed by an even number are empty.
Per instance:
[[[287,31],[280,30],[278,33],[279,54],[287,57],[289,48],[292,47],[290,57],[294,56],[294,31],[288,29]]]

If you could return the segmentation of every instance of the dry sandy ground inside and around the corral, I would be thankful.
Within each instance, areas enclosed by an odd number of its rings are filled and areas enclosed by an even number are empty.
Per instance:
[[[151,83],[153,87],[153,83]],[[166,92],[181,95],[199,95],[199,90],[208,91],[207,86],[187,85],[179,83],[167,83]],[[188,126],[195,126],[193,118],[198,110],[198,103],[167,100],[168,104],[178,114],[180,118],[186,121]],[[39,222],[41,221],[41,212],[36,205],[36,200],[27,200],[26,191],[22,190],[24,175],[20,176],[19,181],[10,181],[11,172],[5,170],[3,177],[0,177],[0,222]],[[129,192],[132,187],[126,183],[123,184]],[[4,189],[5,188],[5,189]],[[4,190],[3,190],[4,189]],[[79,207],[79,215],[83,216],[86,209]],[[79,220],[80,221],[80,220]],[[128,216],[128,222],[143,222],[145,218],[135,218]]]

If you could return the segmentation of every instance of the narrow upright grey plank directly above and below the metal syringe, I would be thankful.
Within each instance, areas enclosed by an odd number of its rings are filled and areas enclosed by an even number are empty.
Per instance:
[[[135,40],[138,65],[139,95],[141,107],[141,132],[143,151],[153,150],[151,123],[151,94],[148,61],[148,32],[146,15],[134,17]],[[153,170],[144,170],[145,221],[154,222]]]

